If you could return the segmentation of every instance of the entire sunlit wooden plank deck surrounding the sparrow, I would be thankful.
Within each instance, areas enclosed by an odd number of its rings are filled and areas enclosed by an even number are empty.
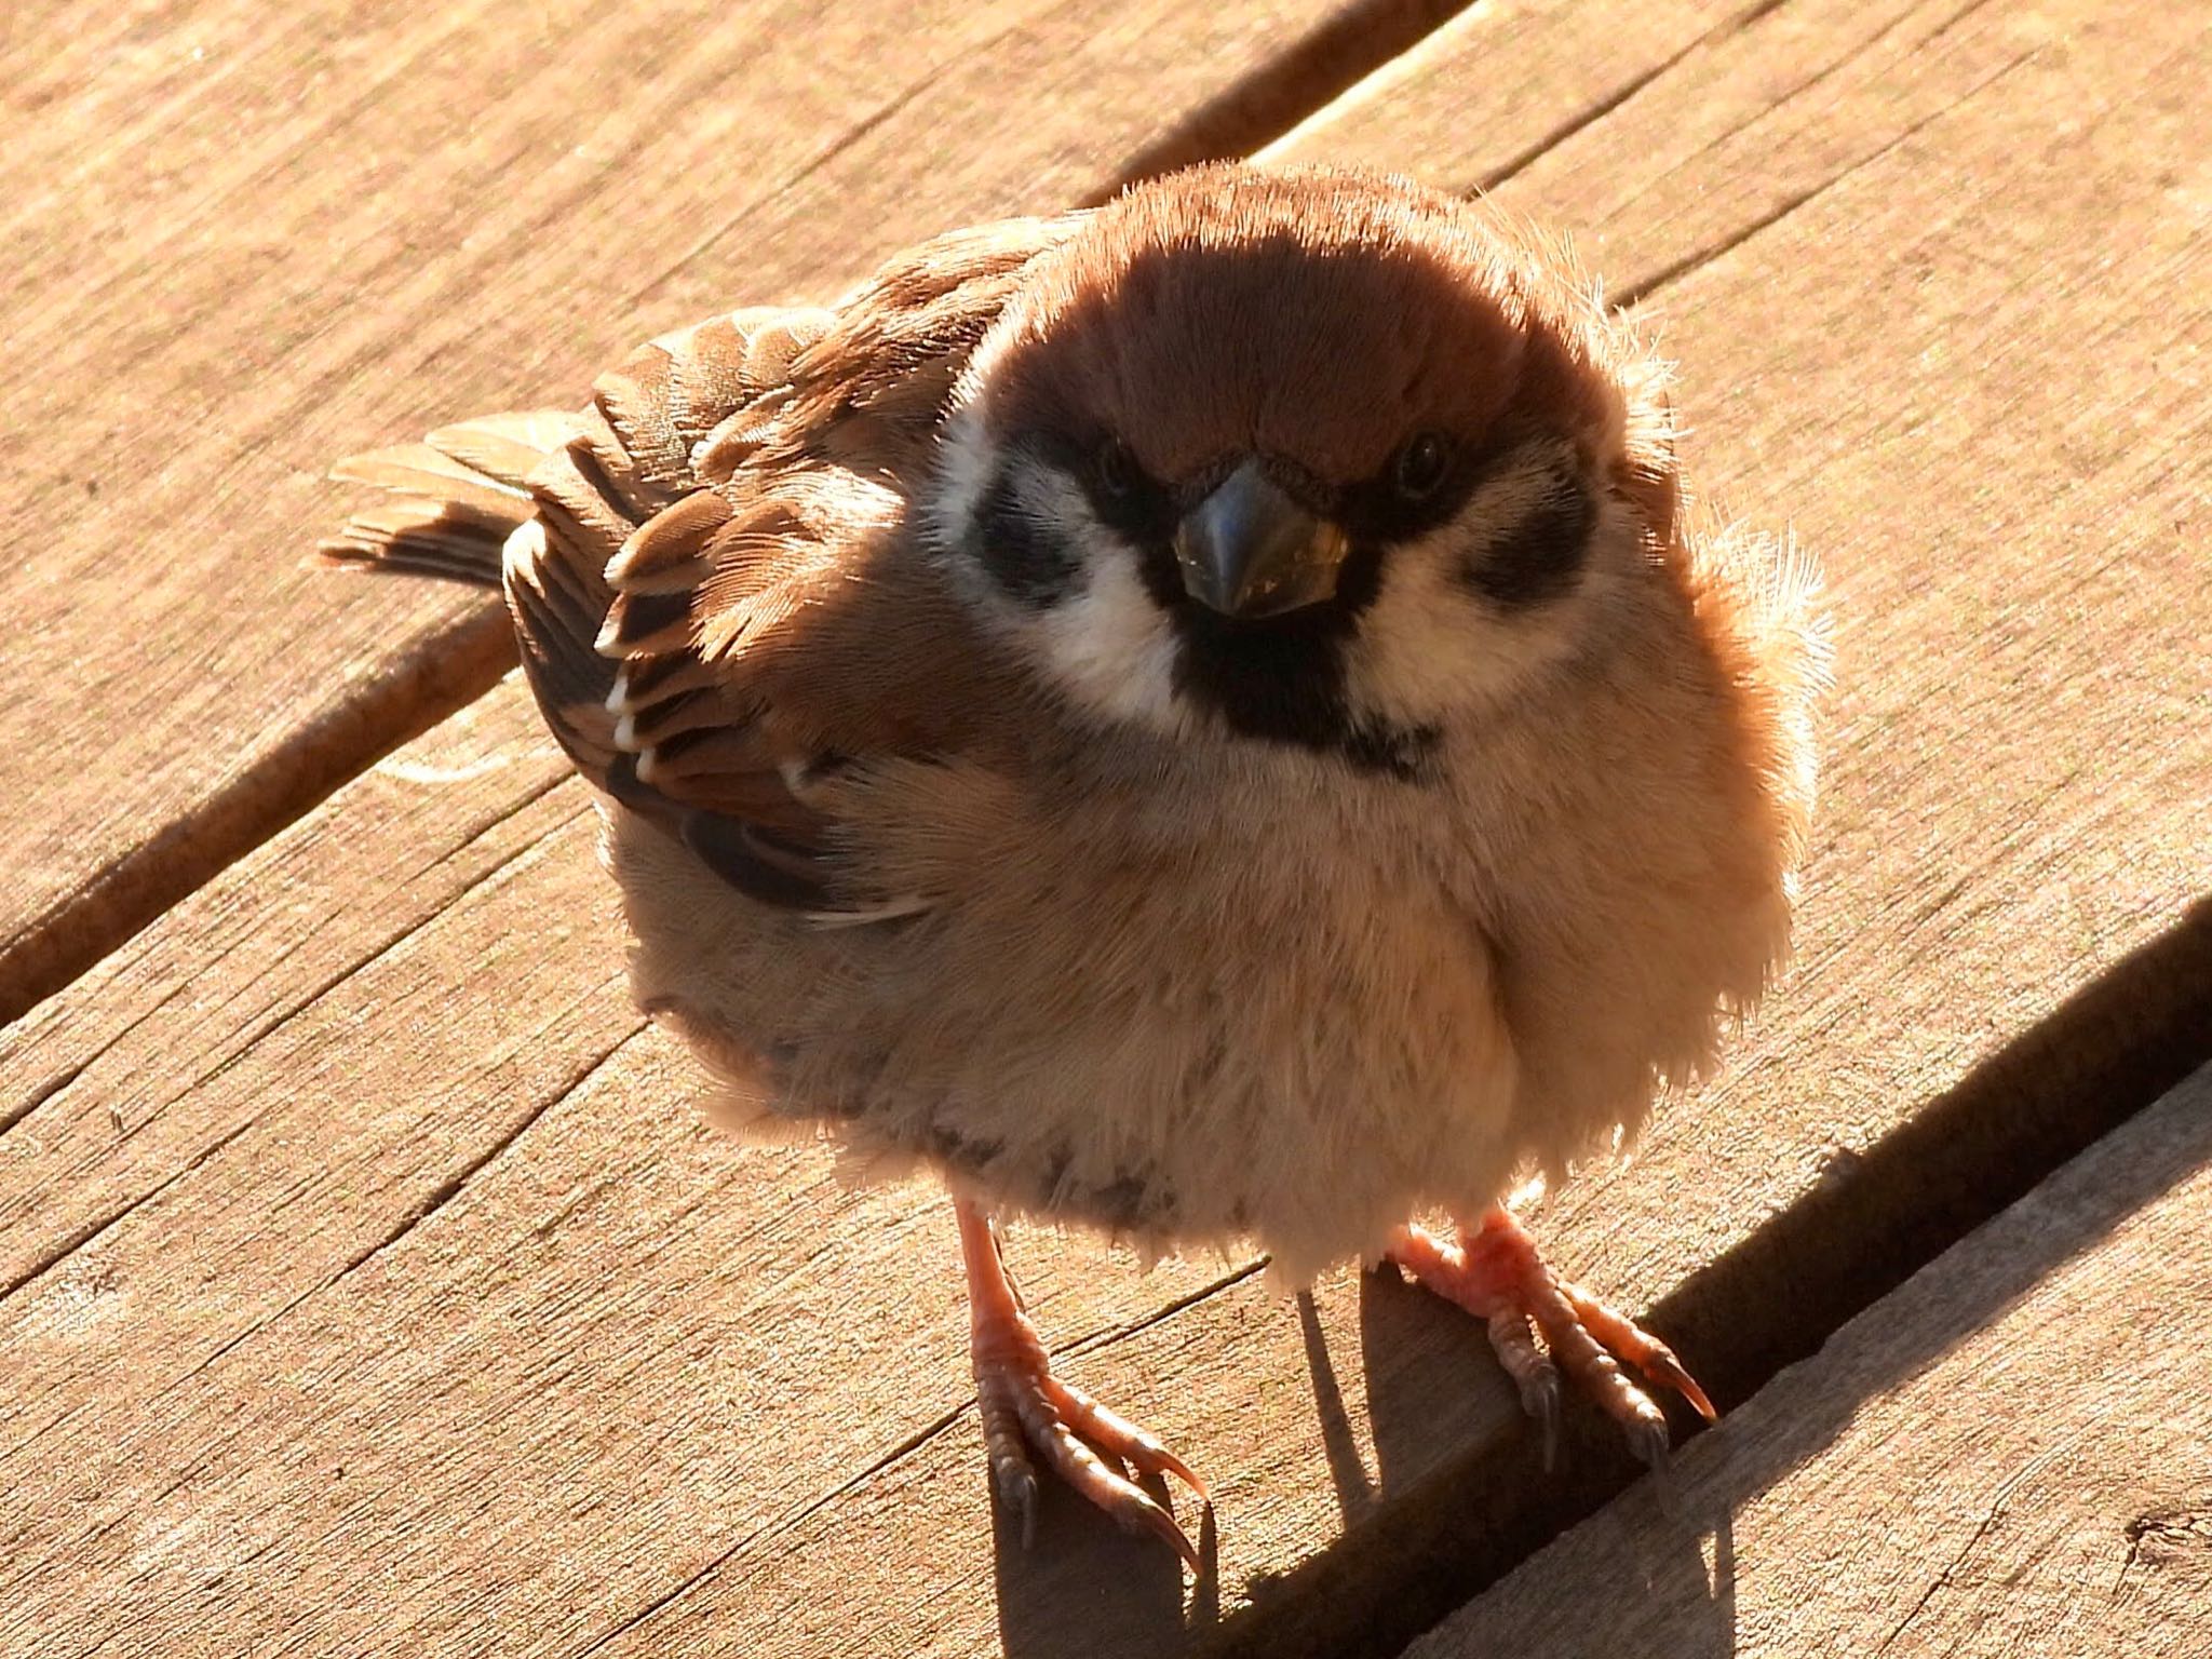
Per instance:
[[[2208,1650],[2212,11],[20,0],[0,88],[0,1655]],[[1232,153],[1571,230],[1843,626],[1796,971],[1535,1214],[1728,1409],[1672,1502],[1394,1279],[1018,1234],[1192,1588],[993,1535],[938,1197],[690,1115],[498,611],[299,566],[336,453]]]

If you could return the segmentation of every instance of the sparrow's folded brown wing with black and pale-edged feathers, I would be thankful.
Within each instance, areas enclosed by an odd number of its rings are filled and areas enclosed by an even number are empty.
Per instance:
[[[958,232],[838,310],[666,336],[529,476],[504,586],[553,734],[757,900],[880,905],[832,876],[825,785],[958,752],[1006,706],[907,504],[969,352],[1071,223]]]

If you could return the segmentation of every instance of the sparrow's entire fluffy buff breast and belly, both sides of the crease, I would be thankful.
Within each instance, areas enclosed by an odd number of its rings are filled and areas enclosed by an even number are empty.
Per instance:
[[[763,911],[617,810],[639,998],[741,1121],[1303,1279],[1635,1126],[1783,960],[1803,757],[1728,695],[1759,635],[1692,624],[1630,617],[1420,781],[1133,739],[874,768],[836,816],[925,900],[891,925]]]

